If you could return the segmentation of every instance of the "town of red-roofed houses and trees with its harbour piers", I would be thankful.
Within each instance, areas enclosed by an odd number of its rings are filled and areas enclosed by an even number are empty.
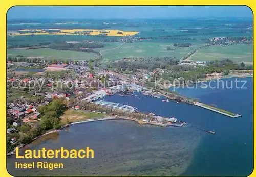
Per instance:
[[[16,57],[17,60],[20,58],[23,58],[23,56]],[[139,60],[140,63],[143,63],[146,59]],[[169,58],[166,60],[169,60]],[[175,85],[175,83],[164,89],[159,85],[153,87],[153,81],[157,78],[163,77],[166,73],[174,73],[171,69],[155,68],[155,70],[150,71],[141,68],[134,70],[132,68],[133,70],[127,72],[130,70],[129,64],[125,63],[124,65],[122,63],[120,65],[121,69],[115,70],[119,68],[119,62],[137,62],[138,59],[134,61],[122,59],[112,63],[109,68],[93,67],[92,61],[55,61],[54,63],[48,63],[40,59],[27,59],[25,61],[13,61],[13,58],[11,58],[7,62],[7,133],[9,134],[7,146],[9,152],[16,146],[29,143],[41,133],[59,129],[61,126],[71,123],[70,120],[65,120],[65,123],[63,123],[63,120],[59,118],[67,109],[89,111],[101,114],[102,117],[107,115],[130,117],[130,119],[136,117],[135,120],[142,124],[151,123],[160,126],[182,126],[185,124],[181,121],[177,122],[178,120],[174,117],[163,118],[155,116],[153,113],[140,113],[136,107],[101,100],[105,96],[113,94],[138,96],[133,94],[136,91],[155,98],[164,96],[167,98],[166,102],[168,99],[175,99],[177,102],[201,106],[201,104],[196,103],[196,100],[171,92],[168,87]],[[154,59],[151,59],[151,61],[154,61]],[[226,63],[234,67],[236,65],[238,67],[242,66],[231,61],[226,61]],[[208,62],[194,62],[193,64],[193,62],[182,60],[181,62],[174,62],[173,66],[179,66],[181,70],[191,66],[208,69],[210,64]],[[113,67],[115,69],[112,69]],[[241,72],[241,70],[232,70],[235,73],[239,73],[239,71]],[[217,74],[222,77],[223,74],[225,75],[225,72],[221,70],[219,73],[215,70],[210,72],[206,70],[205,72],[206,74],[202,77],[204,80],[211,79],[211,75]],[[176,71],[177,73],[179,71]],[[251,72],[247,70],[242,71],[242,73],[251,75]],[[177,80],[184,82],[185,79],[178,77]],[[212,108],[209,107],[209,109]],[[218,112],[220,110],[216,109],[214,111]],[[229,116],[240,116],[222,111],[223,114]]]

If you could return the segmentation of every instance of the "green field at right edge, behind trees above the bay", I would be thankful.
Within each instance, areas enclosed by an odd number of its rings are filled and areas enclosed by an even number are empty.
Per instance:
[[[198,50],[191,58],[194,61],[230,59],[234,62],[253,62],[253,45],[237,44],[229,46],[211,46]]]

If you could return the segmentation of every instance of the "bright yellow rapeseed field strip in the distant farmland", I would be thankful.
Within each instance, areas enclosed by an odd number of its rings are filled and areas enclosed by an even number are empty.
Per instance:
[[[8,36],[24,36],[24,35],[85,35],[82,33],[82,31],[93,31],[88,34],[90,35],[99,35],[100,33],[105,33],[108,36],[133,36],[135,34],[138,34],[139,32],[137,31],[121,31],[121,30],[108,30],[108,29],[47,29],[47,30],[60,30],[61,32],[56,32],[56,33],[49,33],[46,32],[45,30],[37,30],[37,29],[24,29],[24,30],[19,30],[19,31],[41,31],[40,33],[9,33]],[[75,33],[76,32],[76,33]],[[81,32],[81,33],[79,33]],[[117,32],[122,32],[122,34],[118,34]]]

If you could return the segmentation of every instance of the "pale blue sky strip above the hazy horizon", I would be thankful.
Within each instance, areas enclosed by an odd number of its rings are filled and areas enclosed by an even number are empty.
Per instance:
[[[250,17],[247,6],[14,6],[7,19]]]

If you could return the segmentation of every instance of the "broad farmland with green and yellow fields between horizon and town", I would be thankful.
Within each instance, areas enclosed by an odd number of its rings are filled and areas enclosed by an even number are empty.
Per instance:
[[[103,43],[104,47],[92,48],[101,52],[100,62],[108,63],[133,57],[184,57],[191,50],[209,43],[209,39],[227,36],[252,36],[251,20],[218,19],[154,19],[154,20],[38,20],[8,22],[8,47],[42,45],[65,41]],[[31,23],[31,24],[30,24]],[[30,24],[30,25],[28,25]],[[117,30],[118,29],[118,30]],[[119,33],[118,33],[119,32]],[[32,35],[34,34],[34,35]],[[130,35],[127,37],[127,35]],[[208,40],[208,41],[207,41]],[[191,43],[189,47],[174,47],[174,43]],[[170,47],[167,50],[167,47]],[[41,57],[46,59],[90,60],[93,53],[61,51],[54,49],[9,50],[8,56]],[[252,63],[252,45],[211,46],[201,48],[189,59],[210,61],[231,59]]]

